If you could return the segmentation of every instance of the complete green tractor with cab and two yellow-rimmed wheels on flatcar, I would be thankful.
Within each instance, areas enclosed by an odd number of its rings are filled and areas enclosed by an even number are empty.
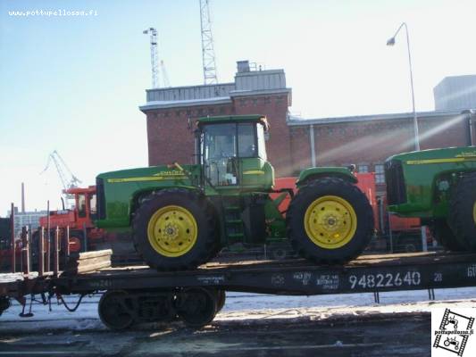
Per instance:
[[[196,164],[102,173],[96,178],[99,228],[131,228],[157,270],[188,270],[224,246],[289,239],[318,263],[347,262],[373,233],[372,207],[347,168],[310,168],[299,188],[276,191],[262,115],[196,120]],[[280,193],[271,200],[270,194]],[[287,212],[279,205],[290,195]]]

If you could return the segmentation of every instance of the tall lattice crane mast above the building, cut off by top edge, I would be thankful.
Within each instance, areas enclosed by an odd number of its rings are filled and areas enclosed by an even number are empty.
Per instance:
[[[212,21],[208,0],[200,0],[200,27],[202,29],[202,62],[204,66],[204,84],[218,83],[213,47]]]

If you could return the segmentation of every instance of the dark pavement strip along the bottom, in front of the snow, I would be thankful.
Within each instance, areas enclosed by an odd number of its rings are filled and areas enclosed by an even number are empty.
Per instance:
[[[0,337],[0,355],[430,356],[428,312],[273,320],[222,320],[200,330],[180,323],[129,332],[19,331]]]

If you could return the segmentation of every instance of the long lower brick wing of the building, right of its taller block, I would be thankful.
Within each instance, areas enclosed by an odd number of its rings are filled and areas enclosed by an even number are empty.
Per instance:
[[[419,112],[421,149],[476,143],[472,112]],[[309,166],[347,166],[376,172],[377,191],[385,191],[383,162],[413,151],[413,113],[300,120],[288,117],[295,172]],[[473,130],[474,131],[474,130]],[[470,136],[472,134],[472,137]]]

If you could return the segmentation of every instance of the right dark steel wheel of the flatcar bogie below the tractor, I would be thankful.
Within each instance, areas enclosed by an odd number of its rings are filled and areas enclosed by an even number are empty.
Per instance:
[[[202,287],[185,290],[180,294],[178,313],[191,328],[201,328],[214,319],[217,312],[217,294]]]

